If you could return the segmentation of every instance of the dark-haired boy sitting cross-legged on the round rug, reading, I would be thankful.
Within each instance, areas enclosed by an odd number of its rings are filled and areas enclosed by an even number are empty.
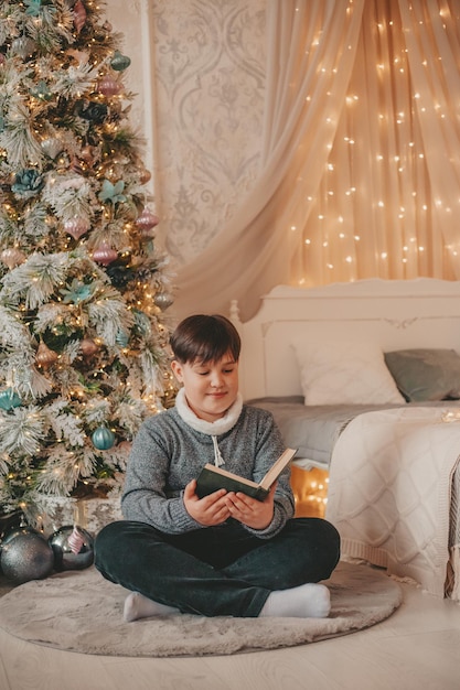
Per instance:
[[[243,405],[240,341],[221,315],[183,320],[171,336],[175,407],[137,434],[121,497],[125,520],[97,536],[96,568],[131,594],[125,618],[325,617],[340,556],[335,528],[293,516],[289,470],[264,502],[220,489],[199,498],[206,462],[259,482],[285,450],[271,414]]]

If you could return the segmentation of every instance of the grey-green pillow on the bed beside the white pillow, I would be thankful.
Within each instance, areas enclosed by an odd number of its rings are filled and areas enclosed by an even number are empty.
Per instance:
[[[460,398],[460,355],[454,349],[385,353],[385,363],[408,402]]]

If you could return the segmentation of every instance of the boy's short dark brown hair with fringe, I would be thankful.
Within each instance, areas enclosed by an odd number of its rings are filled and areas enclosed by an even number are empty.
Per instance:
[[[238,362],[242,348],[237,330],[221,314],[188,316],[176,326],[170,344],[181,364],[218,362],[227,353]]]

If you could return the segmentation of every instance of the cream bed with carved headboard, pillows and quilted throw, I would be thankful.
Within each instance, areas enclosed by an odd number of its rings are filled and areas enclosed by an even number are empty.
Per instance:
[[[460,601],[460,283],[279,285],[231,319],[245,400],[329,473],[343,558]]]

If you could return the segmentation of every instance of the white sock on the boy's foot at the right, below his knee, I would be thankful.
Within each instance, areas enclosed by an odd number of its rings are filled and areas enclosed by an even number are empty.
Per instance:
[[[325,618],[331,611],[331,595],[323,584],[307,583],[291,590],[270,592],[259,616],[286,618]]]

